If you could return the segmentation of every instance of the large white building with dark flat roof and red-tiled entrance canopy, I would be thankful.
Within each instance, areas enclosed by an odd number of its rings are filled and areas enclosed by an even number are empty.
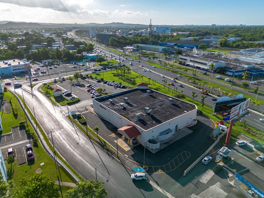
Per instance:
[[[116,126],[128,144],[136,139],[159,149],[161,141],[179,136],[180,129],[197,121],[196,105],[148,89],[146,83],[137,86],[93,99],[95,113]]]

